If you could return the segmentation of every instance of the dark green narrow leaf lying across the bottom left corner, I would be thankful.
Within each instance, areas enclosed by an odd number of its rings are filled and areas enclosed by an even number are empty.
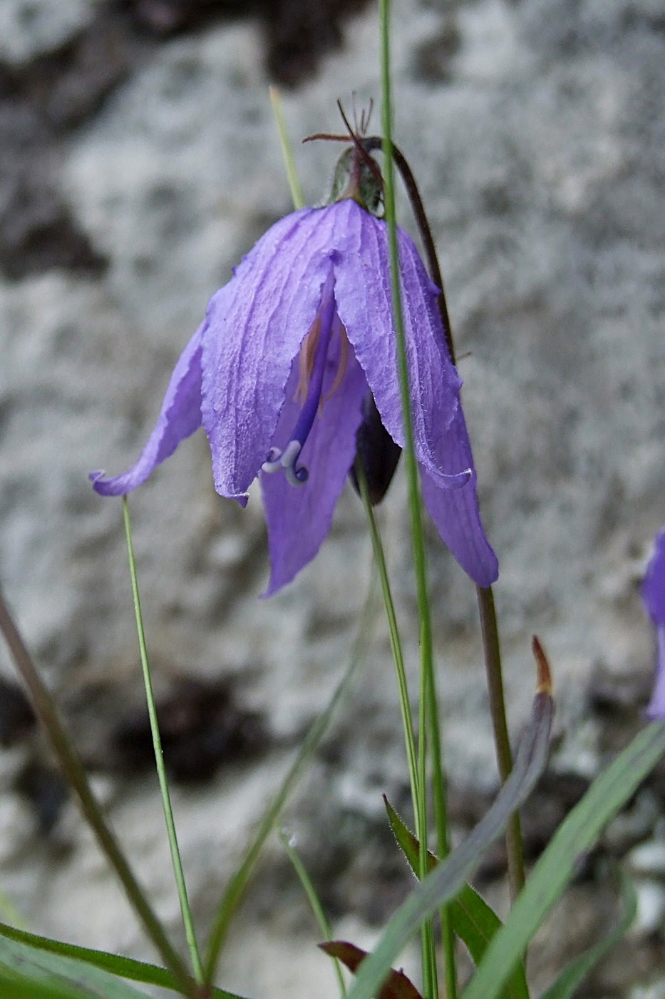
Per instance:
[[[156,964],[148,964],[144,961],[135,961],[131,957],[123,957],[120,954],[110,954],[104,950],[92,950],[88,947],[77,947],[75,944],[64,943],[61,940],[51,940],[49,937],[37,936],[35,933],[26,933],[13,926],[6,926],[0,923],[0,938],[24,944],[36,951],[43,951],[49,954],[59,955],[79,961],[83,964],[90,964],[102,971],[107,971],[118,978],[127,978],[135,982],[143,982],[146,985],[161,985],[163,988],[179,991],[179,984],[176,978],[166,968],[160,968]],[[0,939],[0,961],[3,955],[4,941]],[[0,992],[4,999],[4,992]],[[232,992],[225,992],[224,989],[214,989],[212,993],[215,999],[242,999]]]

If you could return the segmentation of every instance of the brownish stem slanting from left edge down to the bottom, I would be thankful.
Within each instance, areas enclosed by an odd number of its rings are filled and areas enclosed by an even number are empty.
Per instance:
[[[178,980],[183,995],[190,996],[191,999],[200,999],[203,993],[190,977],[185,962],[169,941],[164,927],[155,915],[125,859],[114,833],[106,823],[102,810],[90,789],[83,764],[69,732],[65,728],[60,712],[46,684],[37,672],[1,592],[0,631],[4,635],[16,668],[30,692],[32,706],[48,733],[62,772],[78,797],[84,817],[95,833],[102,852],[120,878],[130,903],[162,960]]]

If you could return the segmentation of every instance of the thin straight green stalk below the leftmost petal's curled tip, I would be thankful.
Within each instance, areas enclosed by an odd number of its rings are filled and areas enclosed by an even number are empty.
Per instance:
[[[160,782],[160,791],[162,793],[164,819],[166,821],[167,835],[169,837],[169,847],[171,849],[171,862],[173,864],[173,872],[176,878],[178,897],[180,899],[180,910],[183,915],[183,923],[185,925],[185,935],[187,937],[187,945],[189,947],[190,955],[192,958],[192,968],[194,970],[194,977],[200,985],[203,985],[204,983],[203,965],[201,963],[201,956],[199,954],[199,945],[197,943],[196,932],[194,929],[192,910],[190,909],[190,903],[187,897],[185,872],[183,871],[183,862],[180,856],[180,850],[178,848],[178,836],[176,834],[176,823],[173,817],[173,808],[171,807],[171,794],[169,792],[169,781],[167,779],[166,767],[164,765],[164,754],[162,752],[162,738],[160,736],[160,727],[159,727],[159,722],[157,720],[157,707],[155,705],[153,681],[150,675],[150,663],[148,661],[148,647],[146,645],[146,633],[143,627],[143,614],[141,612],[139,579],[136,571],[136,558],[134,556],[134,541],[132,538],[132,518],[130,516],[129,501],[127,500],[126,496],[123,497],[123,517],[125,520],[127,555],[129,558],[130,576],[132,579],[132,595],[134,597],[136,629],[139,636],[139,649],[141,652],[141,668],[143,670],[143,682],[146,687],[146,701],[148,703],[150,729],[153,736],[153,748],[155,750],[155,765],[157,767],[157,776]]]

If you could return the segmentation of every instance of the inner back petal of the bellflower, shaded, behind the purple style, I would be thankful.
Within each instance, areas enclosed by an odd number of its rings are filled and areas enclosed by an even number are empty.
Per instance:
[[[324,398],[337,370],[336,336],[329,358]],[[294,402],[298,382],[296,361],[274,441],[280,449],[289,441],[301,411],[301,404]],[[322,414],[315,421],[300,455],[300,463],[310,472],[307,483],[294,487],[285,475],[261,474],[271,555],[271,578],[265,596],[290,582],[314,558],[330,530],[334,504],[355,456],[355,434],[366,392],[362,369],[349,351],[343,380],[331,399],[324,403]]]

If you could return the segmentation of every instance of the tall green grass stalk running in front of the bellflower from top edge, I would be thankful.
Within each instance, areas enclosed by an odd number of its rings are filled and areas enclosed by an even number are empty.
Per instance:
[[[395,221],[395,199],[394,199],[394,168],[392,162],[392,102],[391,102],[391,80],[390,80],[390,33],[389,33],[389,0],[379,0],[380,30],[381,30],[381,125],[383,132],[383,155],[385,159],[383,182],[384,182],[384,205],[385,219],[387,223],[388,248],[390,257],[390,283],[392,286],[392,312],[397,341],[397,364],[399,373],[399,391],[401,397],[402,420],[404,424],[404,461],[406,466],[406,482],[408,489],[408,504],[411,513],[411,535],[413,548],[413,566],[415,572],[415,583],[417,593],[418,619],[420,631],[420,711],[421,728],[420,739],[420,776],[423,777],[425,768],[426,740],[428,738],[430,746],[432,739],[436,742],[433,730],[438,732],[439,719],[436,715],[435,702],[435,680],[433,663],[433,646],[431,634],[431,618],[429,612],[429,599],[427,594],[427,578],[425,564],[424,533],[421,518],[421,502],[418,484],[418,471],[415,459],[413,424],[410,408],[410,386],[408,381],[408,367],[406,363],[406,343],[404,338],[403,319],[401,312],[401,296],[399,285],[399,260],[397,250],[397,232]],[[440,749],[440,746],[439,746]],[[435,789],[439,793],[444,793],[442,780],[442,766],[440,753],[437,758],[432,759],[433,769],[438,771],[438,778]],[[424,793],[425,784],[423,782],[420,794],[420,807],[424,810],[425,821],[423,823],[423,833],[426,832],[426,795]],[[448,851],[447,828],[445,827],[445,804],[442,800],[438,802],[439,826],[437,832],[441,841],[437,844],[442,853]],[[442,820],[442,824],[441,824]],[[427,871],[426,839],[423,835],[420,839],[419,875],[424,878]],[[428,934],[433,939],[431,921],[427,921],[425,926],[429,927]],[[449,920],[444,918],[441,932],[444,936],[444,956],[445,956],[445,981],[448,999],[454,999],[456,994],[456,974],[454,967],[454,948],[452,929]],[[431,945],[427,945],[425,963],[427,965],[425,974],[425,984],[429,986],[428,994],[432,997],[438,996],[437,972],[435,955],[432,953]]]

